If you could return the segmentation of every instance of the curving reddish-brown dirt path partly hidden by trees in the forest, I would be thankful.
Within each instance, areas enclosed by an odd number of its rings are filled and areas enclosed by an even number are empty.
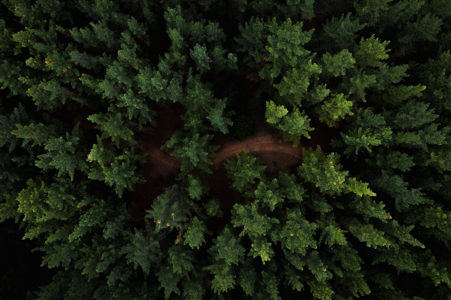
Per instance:
[[[133,211],[139,214],[137,219],[143,217],[141,214],[144,214],[152,200],[164,191],[164,186],[176,181],[181,166],[181,159],[170,156],[170,150],[168,152],[161,150],[156,139],[147,141],[144,147],[149,154],[144,166],[146,183],[136,185],[132,195]],[[285,164],[289,167],[299,165],[302,159],[301,145],[293,147],[291,142],[281,141],[275,133],[262,132],[240,142],[224,140],[210,166],[213,173],[207,177],[210,196],[228,198],[225,188],[229,186],[230,178],[226,177],[224,162],[245,150],[262,159],[263,164],[267,165],[268,173],[280,170]],[[225,201],[224,205],[231,205],[232,198]]]

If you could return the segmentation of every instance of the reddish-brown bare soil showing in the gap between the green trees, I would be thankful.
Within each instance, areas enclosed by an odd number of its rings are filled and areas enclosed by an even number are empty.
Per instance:
[[[179,173],[181,159],[170,156],[170,151],[161,150],[163,145],[174,132],[173,128],[181,128],[183,121],[178,117],[184,114],[183,107],[175,107],[172,113],[165,109],[160,112],[155,131],[151,138],[143,139],[144,149],[149,154],[144,166],[146,183],[137,185],[133,193],[135,209],[143,214],[145,209],[149,209],[152,199],[164,191],[164,187],[176,182],[175,177]],[[164,113],[163,113],[164,112]],[[177,120],[177,123],[174,122]],[[215,138],[215,144],[221,147],[216,151],[216,158],[210,166],[212,174],[207,177],[210,187],[209,196],[221,198],[223,205],[231,204],[233,199],[227,191],[231,181],[226,177],[224,162],[226,159],[235,157],[240,151],[249,150],[262,159],[262,163],[267,165],[266,173],[274,173],[285,166],[295,167],[302,161],[302,148],[316,148],[321,145],[327,150],[331,140],[331,129],[315,129],[310,132],[311,139],[304,139],[297,147],[293,147],[292,142],[282,141],[275,131],[263,131],[254,136],[250,136],[244,141],[231,141],[224,135]],[[143,137],[142,137],[143,138]],[[135,210],[134,209],[134,210]],[[136,210],[135,210],[136,211]]]

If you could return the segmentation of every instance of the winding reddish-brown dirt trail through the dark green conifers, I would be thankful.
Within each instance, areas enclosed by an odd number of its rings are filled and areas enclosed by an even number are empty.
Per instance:
[[[249,150],[262,159],[267,166],[268,173],[279,171],[285,165],[288,167],[298,166],[302,162],[302,149],[307,146],[321,145],[327,148],[331,135],[328,131],[313,131],[311,139],[304,139],[298,147],[293,147],[289,141],[281,141],[276,132],[262,132],[249,136],[243,141],[222,140],[220,148],[216,151],[213,164],[210,169],[213,174],[209,176],[208,182],[214,191],[219,191],[228,180],[224,180],[226,159],[235,157],[240,151]],[[175,180],[180,171],[181,159],[170,155],[170,151],[161,150],[161,144],[155,139],[149,139],[144,143],[145,150],[149,154],[144,166],[146,183],[137,185],[136,192],[147,198],[149,190],[153,191],[157,186],[163,186],[167,182]],[[146,194],[147,192],[147,194]],[[154,198],[155,195],[152,195]]]

